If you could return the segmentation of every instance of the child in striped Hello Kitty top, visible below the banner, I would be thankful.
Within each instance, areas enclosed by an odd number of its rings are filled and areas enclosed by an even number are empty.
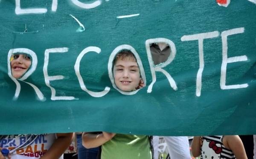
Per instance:
[[[238,135],[195,136],[191,148],[192,155],[201,159],[247,159]]]

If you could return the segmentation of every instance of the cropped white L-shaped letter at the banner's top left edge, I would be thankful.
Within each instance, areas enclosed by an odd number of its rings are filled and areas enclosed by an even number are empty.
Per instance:
[[[44,14],[47,12],[47,9],[44,8],[35,8],[35,9],[21,9],[20,0],[15,0],[15,13],[16,14]]]

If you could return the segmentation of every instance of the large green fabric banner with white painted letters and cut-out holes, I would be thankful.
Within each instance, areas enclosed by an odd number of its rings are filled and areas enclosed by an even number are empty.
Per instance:
[[[0,134],[256,134],[255,13],[256,0],[1,0]],[[122,49],[144,88],[116,88]],[[31,60],[20,77],[15,55]]]

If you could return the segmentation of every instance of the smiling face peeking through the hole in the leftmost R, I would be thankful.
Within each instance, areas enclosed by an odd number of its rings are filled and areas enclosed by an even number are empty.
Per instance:
[[[29,69],[31,59],[28,55],[15,54],[11,58],[12,76],[20,78]]]

